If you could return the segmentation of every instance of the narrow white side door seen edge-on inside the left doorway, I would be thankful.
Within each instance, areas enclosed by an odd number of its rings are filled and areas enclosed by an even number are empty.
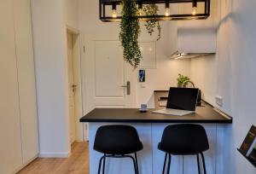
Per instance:
[[[76,138],[76,119],[75,119],[75,92],[76,84],[74,78],[74,59],[73,59],[73,35],[67,32],[67,63],[68,63],[68,99],[69,99],[69,121],[70,121],[70,141],[73,143]]]

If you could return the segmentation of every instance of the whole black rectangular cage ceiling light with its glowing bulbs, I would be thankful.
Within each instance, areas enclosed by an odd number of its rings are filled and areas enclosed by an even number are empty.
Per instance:
[[[99,0],[99,14],[100,14],[100,20],[103,22],[116,22],[120,21],[122,19],[121,15],[118,15],[116,9],[117,6],[121,6],[121,0]],[[138,18],[139,20],[148,21],[148,20],[206,20],[210,16],[210,0],[135,0],[135,3],[138,5]],[[176,4],[173,5],[174,7],[182,8],[187,4],[191,5],[192,3],[192,13],[174,13],[173,10],[172,14],[170,13],[170,4]],[[198,13],[198,4],[201,5],[201,13]],[[143,14],[143,5],[148,4],[155,4],[159,6],[159,9],[161,9],[161,6],[164,5],[165,9],[160,10],[157,15],[146,15]],[[112,13],[109,14],[109,6],[112,7]]]

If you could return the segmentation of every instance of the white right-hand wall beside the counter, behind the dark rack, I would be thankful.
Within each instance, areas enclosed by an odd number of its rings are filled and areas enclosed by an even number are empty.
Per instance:
[[[236,148],[256,124],[255,98],[255,45],[256,2],[251,0],[222,1],[223,19],[218,27],[217,55],[191,61],[191,78],[204,92],[208,102],[215,105],[214,97],[223,96],[221,107],[233,117],[233,125],[219,127],[223,132],[223,173],[253,174],[256,169]],[[227,15],[226,15],[227,14]]]

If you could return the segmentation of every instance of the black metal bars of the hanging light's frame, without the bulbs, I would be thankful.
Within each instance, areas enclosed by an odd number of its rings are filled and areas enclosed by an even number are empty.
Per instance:
[[[121,20],[121,16],[118,15],[113,18],[111,15],[106,15],[106,8],[108,6],[112,7],[113,4],[118,6],[121,4],[120,0],[99,0],[99,10],[100,10],[100,20],[103,22],[117,22]],[[166,0],[136,0],[139,7],[143,4],[166,4]],[[168,0],[168,3],[190,3],[191,9],[197,6],[197,3],[204,3],[204,13],[200,14],[170,14],[166,16],[165,14],[159,15],[139,15],[138,18],[143,21],[148,20],[206,20],[210,16],[210,0]]]

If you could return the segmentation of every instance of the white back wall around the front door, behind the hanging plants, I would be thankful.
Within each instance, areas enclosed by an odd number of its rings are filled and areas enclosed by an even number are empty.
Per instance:
[[[85,52],[82,55],[83,86],[84,86],[84,113],[94,108],[93,103],[93,77],[94,77],[94,40],[119,40],[119,22],[102,22],[99,20],[98,1],[79,0],[79,29],[83,33]],[[176,39],[169,40],[172,28],[168,27],[172,22],[161,22],[162,34],[160,41],[156,42],[157,69],[146,69],[145,88],[136,84],[137,106],[141,103],[148,103],[153,107],[152,95],[154,90],[167,90],[170,86],[177,85],[176,78],[178,73],[189,75],[190,61],[171,61],[170,55],[176,48]],[[140,42],[155,41],[157,31],[153,37],[145,31],[143,23]],[[177,26],[174,26],[177,27]],[[135,106],[136,107],[136,106]]]

